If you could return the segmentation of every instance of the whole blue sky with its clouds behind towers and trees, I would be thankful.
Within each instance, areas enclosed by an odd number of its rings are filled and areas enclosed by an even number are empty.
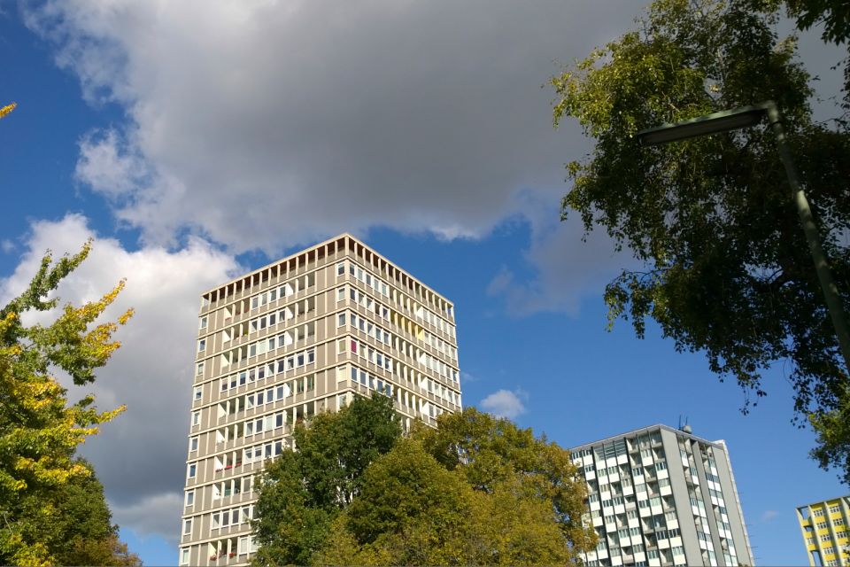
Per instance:
[[[687,416],[730,447],[757,563],[808,564],[794,508],[846,487],[808,460],[785,369],[742,416],[701,354],[607,331],[601,290],[630,259],[558,221],[590,145],[553,130],[540,85],[643,3],[474,4],[0,1],[0,104],[19,103],[0,300],[87,237],[63,298],[128,278],[137,315],[94,386],[128,411],[84,447],[123,538],[176,559],[199,292],[350,231],[455,302],[465,404],[501,392],[488,407],[563,447]]]

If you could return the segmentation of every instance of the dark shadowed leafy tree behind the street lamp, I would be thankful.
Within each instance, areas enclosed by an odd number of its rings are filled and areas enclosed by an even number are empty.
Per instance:
[[[745,412],[766,393],[762,372],[791,361],[797,419],[828,427],[850,408],[847,369],[772,135],[762,126],[648,149],[635,138],[663,122],[776,101],[850,307],[841,237],[850,229],[850,137],[811,120],[809,76],[793,41],[774,32],[777,9],[656,0],[637,30],[554,77],[555,124],[575,118],[596,138],[587,159],[568,164],[561,214],[580,214],[586,231],[606,229],[642,264],[607,285],[609,322],[630,319],[642,338],[652,318],[676,350],[705,351],[715,373],[743,387]],[[822,431],[813,456],[843,467],[850,482],[843,431]]]

